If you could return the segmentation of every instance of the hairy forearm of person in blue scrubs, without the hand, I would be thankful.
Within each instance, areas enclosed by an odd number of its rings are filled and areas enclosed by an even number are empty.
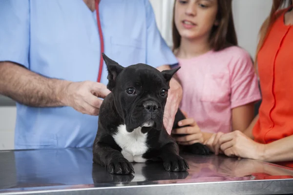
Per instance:
[[[69,81],[45,78],[13,62],[0,62],[0,94],[29,106],[64,106]]]

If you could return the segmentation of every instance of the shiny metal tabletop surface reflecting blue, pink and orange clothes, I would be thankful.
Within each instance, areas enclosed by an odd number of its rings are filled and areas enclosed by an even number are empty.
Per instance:
[[[135,163],[133,175],[111,175],[92,163],[92,150],[0,152],[0,193],[42,189],[77,189],[190,182],[229,182],[293,178],[293,169],[250,159],[182,154],[187,172],[167,172],[162,162]]]

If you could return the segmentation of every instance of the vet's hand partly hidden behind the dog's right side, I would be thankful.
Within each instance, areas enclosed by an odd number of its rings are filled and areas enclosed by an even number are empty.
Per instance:
[[[175,79],[170,80],[170,89],[168,90],[168,98],[164,111],[164,126],[168,132],[171,134],[175,115],[177,113],[179,104],[182,99],[182,87],[180,83]]]

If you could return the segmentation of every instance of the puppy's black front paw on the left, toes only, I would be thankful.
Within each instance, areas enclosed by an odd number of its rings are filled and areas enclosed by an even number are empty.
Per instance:
[[[110,174],[127,175],[134,173],[131,163],[126,158],[113,159],[107,165]]]

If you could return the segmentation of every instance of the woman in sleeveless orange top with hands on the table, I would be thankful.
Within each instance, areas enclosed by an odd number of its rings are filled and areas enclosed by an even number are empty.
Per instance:
[[[273,0],[260,30],[256,63],[262,103],[244,132],[221,135],[227,156],[252,158],[293,167],[293,0]],[[280,9],[281,7],[287,7]]]

